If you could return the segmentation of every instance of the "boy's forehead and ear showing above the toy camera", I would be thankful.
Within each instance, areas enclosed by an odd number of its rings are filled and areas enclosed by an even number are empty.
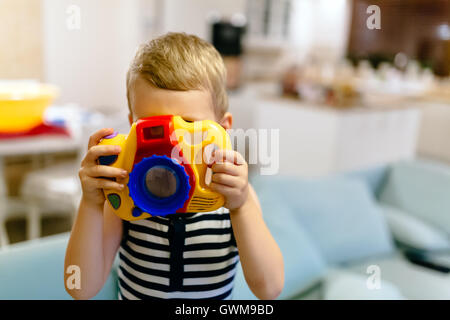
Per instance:
[[[225,129],[231,128],[231,115],[218,119],[211,94],[206,90],[176,91],[159,89],[138,77],[130,90],[132,115],[130,123],[138,119],[173,114],[187,121],[213,120]]]

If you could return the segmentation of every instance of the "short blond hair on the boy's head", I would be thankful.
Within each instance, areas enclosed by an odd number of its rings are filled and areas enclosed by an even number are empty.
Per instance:
[[[127,99],[138,77],[160,89],[207,90],[217,115],[228,110],[226,69],[208,42],[186,33],[168,33],[142,44],[127,73]]]

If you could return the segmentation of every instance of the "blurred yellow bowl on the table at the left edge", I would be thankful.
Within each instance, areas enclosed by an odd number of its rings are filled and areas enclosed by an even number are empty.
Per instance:
[[[0,87],[0,132],[25,132],[38,126],[57,95],[57,88],[47,84]]]

